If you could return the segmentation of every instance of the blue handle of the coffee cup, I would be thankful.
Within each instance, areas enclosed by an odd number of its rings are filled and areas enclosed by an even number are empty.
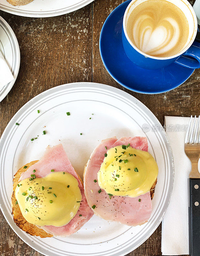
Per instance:
[[[192,57],[193,59],[188,58]],[[200,68],[200,48],[195,45],[191,45],[190,48],[181,55],[174,63],[179,64],[186,68]]]

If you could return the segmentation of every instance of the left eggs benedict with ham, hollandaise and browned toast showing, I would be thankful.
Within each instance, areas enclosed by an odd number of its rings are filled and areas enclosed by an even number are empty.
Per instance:
[[[13,181],[13,219],[30,235],[69,236],[93,215],[82,180],[61,144],[21,167]]]

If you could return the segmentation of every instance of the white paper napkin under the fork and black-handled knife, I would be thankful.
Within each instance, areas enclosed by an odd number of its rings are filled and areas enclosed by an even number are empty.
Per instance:
[[[191,164],[184,152],[189,117],[165,116],[165,130],[174,157],[174,189],[162,222],[163,255],[189,254],[188,177]]]

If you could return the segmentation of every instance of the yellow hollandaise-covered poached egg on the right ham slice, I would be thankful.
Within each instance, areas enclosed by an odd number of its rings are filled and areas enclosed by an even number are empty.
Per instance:
[[[98,183],[108,195],[137,197],[147,193],[158,175],[148,152],[130,145],[108,149],[98,172]]]

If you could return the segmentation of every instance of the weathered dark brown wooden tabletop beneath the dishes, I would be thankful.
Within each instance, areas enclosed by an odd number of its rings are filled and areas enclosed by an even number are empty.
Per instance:
[[[0,11],[17,36],[21,53],[17,80],[0,102],[0,135],[28,100],[47,89],[72,82],[102,83],[124,90],[143,102],[161,124],[165,115],[200,114],[200,69],[177,89],[157,95],[129,91],[109,76],[99,53],[100,30],[108,14],[122,2],[95,0],[76,12],[52,18],[26,18]],[[42,256],[12,231],[1,212],[0,230],[2,256]],[[162,255],[161,224],[144,244],[128,255]]]

